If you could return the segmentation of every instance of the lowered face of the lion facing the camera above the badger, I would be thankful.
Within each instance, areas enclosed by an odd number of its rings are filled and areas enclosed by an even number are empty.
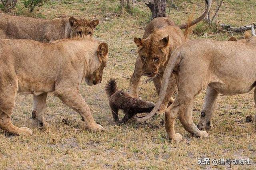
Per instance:
[[[152,36],[147,39],[134,38],[134,42],[138,46],[143,74],[148,77],[156,76],[160,65],[164,65],[169,55],[169,36],[160,40]]]

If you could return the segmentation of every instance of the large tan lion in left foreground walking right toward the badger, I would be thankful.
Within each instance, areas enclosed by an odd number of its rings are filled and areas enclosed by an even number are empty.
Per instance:
[[[0,127],[14,134],[32,134],[10,121],[17,92],[34,95],[33,126],[43,127],[47,93],[54,92],[81,115],[89,130],[103,130],[95,123],[79,85],[83,79],[88,85],[100,83],[107,58],[108,45],[92,38],[52,43],[0,40]]]

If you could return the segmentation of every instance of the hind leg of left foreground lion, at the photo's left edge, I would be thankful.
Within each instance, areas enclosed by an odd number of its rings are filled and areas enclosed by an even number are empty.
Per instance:
[[[18,83],[13,80],[13,77],[8,75],[6,80],[4,78],[0,81],[0,127],[13,134],[32,134],[30,128],[18,128],[11,123],[11,115],[14,107],[15,96],[18,91]]]

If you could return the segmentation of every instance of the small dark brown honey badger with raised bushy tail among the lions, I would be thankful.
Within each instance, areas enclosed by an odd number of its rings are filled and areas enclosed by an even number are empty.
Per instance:
[[[155,104],[150,101],[143,101],[130,97],[128,93],[117,88],[115,79],[110,79],[106,84],[106,93],[109,99],[109,105],[112,111],[113,119],[117,123],[126,123],[137,113],[149,113],[155,107]],[[124,118],[119,121],[118,110],[123,110]]]

